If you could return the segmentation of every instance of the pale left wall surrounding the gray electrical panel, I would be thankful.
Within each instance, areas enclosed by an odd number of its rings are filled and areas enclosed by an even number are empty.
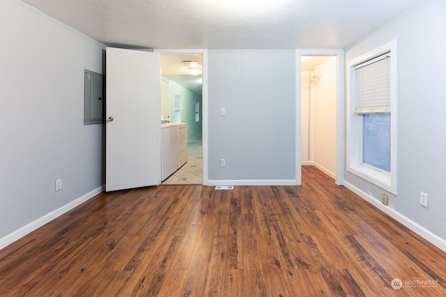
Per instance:
[[[84,125],[84,68],[102,73],[102,45],[20,1],[0,1],[0,20],[1,248],[98,190],[105,154],[103,125]]]

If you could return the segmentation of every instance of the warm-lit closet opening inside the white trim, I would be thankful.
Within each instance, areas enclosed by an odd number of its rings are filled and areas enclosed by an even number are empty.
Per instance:
[[[336,178],[336,56],[301,57],[302,165]]]

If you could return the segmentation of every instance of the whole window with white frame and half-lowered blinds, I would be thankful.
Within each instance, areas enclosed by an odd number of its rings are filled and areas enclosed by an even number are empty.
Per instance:
[[[396,42],[347,63],[347,170],[397,194]]]

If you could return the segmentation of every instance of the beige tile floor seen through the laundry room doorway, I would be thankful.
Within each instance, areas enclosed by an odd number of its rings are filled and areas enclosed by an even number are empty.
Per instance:
[[[169,176],[162,185],[203,184],[203,144],[187,143],[187,163]]]

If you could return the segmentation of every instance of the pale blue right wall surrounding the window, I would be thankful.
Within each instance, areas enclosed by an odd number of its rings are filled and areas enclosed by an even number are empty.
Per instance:
[[[346,61],[397,39],[398,196],[389,201],[446,240],[445,32],[445,1],[433,0],[346,50]],[[348,172],[346,181],[374,197],[385,192]],[[429,208],[420,206],[420,191]]]

